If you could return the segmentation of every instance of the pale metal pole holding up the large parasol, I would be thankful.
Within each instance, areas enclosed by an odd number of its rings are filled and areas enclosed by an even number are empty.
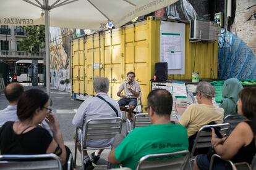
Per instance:
[[[45,1],[45,58],[46,58],[46,92],[50,98],[50,74],[49,74],[49,9],[48,1]]]

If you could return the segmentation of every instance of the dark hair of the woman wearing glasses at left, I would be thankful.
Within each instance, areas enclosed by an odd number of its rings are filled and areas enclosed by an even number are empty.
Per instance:
[[[48,95],[40,89],[30,89],[23,92],[17,104],[17,116],[20,121],[32,119],[36,109],[42,109],[48,100]]]

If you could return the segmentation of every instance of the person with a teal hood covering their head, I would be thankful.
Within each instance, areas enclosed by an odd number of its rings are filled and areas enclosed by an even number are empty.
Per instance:
[[[224,117],[237,114],[238,93],[242,89],[242,84],[236,78],[229,78],[224,81],[220,107],[224,109]]]

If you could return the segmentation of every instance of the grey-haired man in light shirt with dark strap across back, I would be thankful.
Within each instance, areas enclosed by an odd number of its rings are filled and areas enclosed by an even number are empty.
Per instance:
[[[72,121],[76,127],[83,126],[83,139],[85,135],[85,124],[89,119],[116,118],[121,116],[121,110],[118,103],[111,99],[107,94],[109,90],[109,79],[96,77],[93,80],[93,88],[96,92],[96,97],[86,99],[78,108]],[[111,108],[109,104],[112,105],[113,108]],[[87,142],[87,146],[109,147],[112,142],[113,139],[90,140]],[[86,156],[83,158],[85,169],[94,168],[92,162],[96,164],[96,162],[100,159],[101,152],[103,152],[103,150],[97,150],[95,153],[92,153],[92,161],[89,160],[87,153],[85,153]]]

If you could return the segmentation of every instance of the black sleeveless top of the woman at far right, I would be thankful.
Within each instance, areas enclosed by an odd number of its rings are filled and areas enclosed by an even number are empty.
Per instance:
[[[252,129],[252,132],[254,132],[254,137],[255,137],[256,124],[252,121],[245,121],[245,123],[249,124],[250,129]],[[249,145],[240,148],[237,154],[233,158],[231,158],[231,161],[233,161],[233,163],[247,162],[251,164],[255,154],[256,154],[256,144],[255,144],[254,138],[252,138],[252,142],[250,142]]]

